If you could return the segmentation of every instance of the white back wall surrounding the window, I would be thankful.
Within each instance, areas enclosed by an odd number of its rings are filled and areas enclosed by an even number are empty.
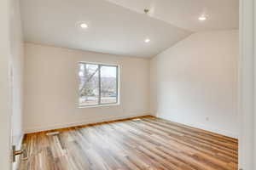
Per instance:
[[[79,61],[120,65],[120,105],[78,108]],[[25,45],[26,132],[149,114],[149,60]]]

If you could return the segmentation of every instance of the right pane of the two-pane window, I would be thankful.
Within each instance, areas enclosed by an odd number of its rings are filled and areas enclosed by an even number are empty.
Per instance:
[[[117,103],[116,66],[101,66],[101,103]]]

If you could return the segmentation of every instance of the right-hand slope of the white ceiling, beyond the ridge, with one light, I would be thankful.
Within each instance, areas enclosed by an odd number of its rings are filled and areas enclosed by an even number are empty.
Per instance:
[[[143,13],[189,31],[215,31],[237,29],[239,0],[107,0],[122,7]],[[201,22],[199,16],[206,15]]]

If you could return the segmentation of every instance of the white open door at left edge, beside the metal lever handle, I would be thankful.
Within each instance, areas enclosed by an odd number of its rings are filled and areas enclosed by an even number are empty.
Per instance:
[[[0,1],[0,168],[11,169],[11,89],[9,82],[9,0]]]

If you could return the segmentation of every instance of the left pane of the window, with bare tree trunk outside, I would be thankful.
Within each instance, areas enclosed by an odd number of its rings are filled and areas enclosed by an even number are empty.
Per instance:
[[[79,64],[79,105],[98,105],[99,66]]]

